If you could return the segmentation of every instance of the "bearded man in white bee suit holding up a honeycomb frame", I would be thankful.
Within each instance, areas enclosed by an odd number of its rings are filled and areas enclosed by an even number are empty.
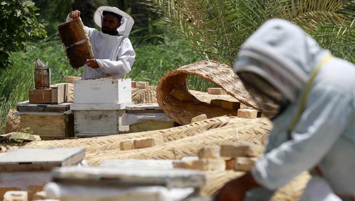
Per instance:
[[[80,18],[80,11],[72,11],[66,21]],[[136,53],[128,38],[133,18],[116,7],[100,6],[94,14],[101,31],[85,27],[95,59],[88,59],[82,79],[118,77],[131,71]]]

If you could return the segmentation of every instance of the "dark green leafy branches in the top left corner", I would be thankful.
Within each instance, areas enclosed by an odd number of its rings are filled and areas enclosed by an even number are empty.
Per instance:
[[[0,60],[4,67],[9,64],[9,54],[17,50],[26,51],[26,42],[31,37],[46,36],[47,23],[38,21],[34,2],[30,0],[0,1]]]

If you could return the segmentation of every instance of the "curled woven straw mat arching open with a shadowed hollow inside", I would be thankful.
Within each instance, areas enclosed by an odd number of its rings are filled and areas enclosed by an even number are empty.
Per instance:
[[[181,125],[189,124],[197,115],[206,114],[207,118],[216,116],[237,116],[237,110],[210,107],[208,103],[192,96],[191,102],[182,102],[172,96],[174,90],[190,94],[187,88],[187,77],[197,75],[213,82],[239,102],[258,109],[255,102],[245,90],[239,77],[225,64],[216,61],[199,61],[185,65],[166,74],[157,86],[157,102],[165,114]]]

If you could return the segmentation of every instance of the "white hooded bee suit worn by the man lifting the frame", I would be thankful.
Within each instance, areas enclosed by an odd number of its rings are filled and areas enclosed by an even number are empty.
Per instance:
[[[99,68],[91,68],[85,65],[82,79],[102,78],[102,77],[118,77],[131,71],[136,53],[133,50],[130,39],[128,38],[132,26],[133,18],[127,13],[116,7],[100,6],[94,14],[95,23],[101,27],[102,12],[110,11],[122,16],[121,26],[117,29],[118,36],[104,34],[93,28],[84,27],[90,39],[92,50]],[[66,21],[72,18],[67,17]]]

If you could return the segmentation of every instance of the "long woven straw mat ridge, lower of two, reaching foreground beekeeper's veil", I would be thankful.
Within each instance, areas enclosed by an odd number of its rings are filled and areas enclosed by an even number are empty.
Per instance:
[[[242,119],[242,118],[239,118]],[[181,159],[197,156],[206,146],[235,143],[264,143],[271,130],[266,118],[243,119],[238,124],[214,128],[195,136],[167,142],[160,146],[133,150],[109,150],[86,154],[89,165],[99,165],[104,160],[114,159]]]

